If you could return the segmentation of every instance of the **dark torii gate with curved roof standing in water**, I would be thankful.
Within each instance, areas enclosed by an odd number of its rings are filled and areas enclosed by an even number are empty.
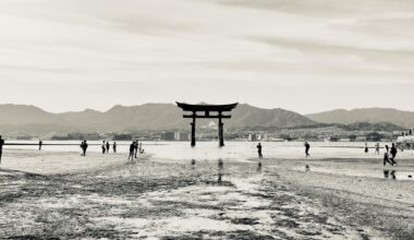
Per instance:
[[[238,106],[236,104],[230,105],[190,105],[176,101],[179,108],[184,111],[191,111],[192,115],[184,115],[184,118],[192,118],[191,123],[191,145],[195,146],[195,119],[196,118],[218,118],[219,119],[219,144],[224,146],[223,124],[221,119],[231,118],[231,116],[222,115],[224,111],[231,111]],[[197,111],[204,111],[204,115],[197,115]],[[210,111],[218,112],[218,115],[210,115]]]

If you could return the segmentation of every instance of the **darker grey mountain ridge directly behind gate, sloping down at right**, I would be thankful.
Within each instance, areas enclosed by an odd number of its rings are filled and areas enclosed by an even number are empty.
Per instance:
[[[190,120],[182,118],[182,110],[174,104],[117,105],[108,111],[92,109],[76,112],[51,113],[35,106],[0,105],[0,131],[45,132],[118,132],[136,130],[188,130]],[[210,120],[198,120],[197,127]],[[285,128],[315,124],[313,120],[284,109],[261,109],[246,104],[239,105],[232,119],[224,120],[226,128],[246,127]]]

